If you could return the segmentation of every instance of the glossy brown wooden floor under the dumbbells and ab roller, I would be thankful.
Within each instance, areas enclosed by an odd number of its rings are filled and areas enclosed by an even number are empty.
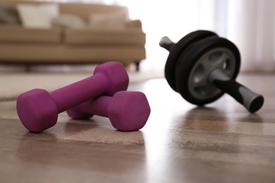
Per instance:
[[[240,76],[266,99],[255,114],[228,95],[193,106],[164,79],[131,84],[152,109],[137,132],[61,113],[35,134],[21,125],[15,101],[1,102],[0,182],[274,182],[274,78]]]

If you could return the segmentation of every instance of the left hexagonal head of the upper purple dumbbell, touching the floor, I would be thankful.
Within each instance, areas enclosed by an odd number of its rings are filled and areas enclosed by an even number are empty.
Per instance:
[[[42,132],[56,124],[58,109],[44,89],[32,89],[20,94],[16,103],[18,116],[30,132]]]

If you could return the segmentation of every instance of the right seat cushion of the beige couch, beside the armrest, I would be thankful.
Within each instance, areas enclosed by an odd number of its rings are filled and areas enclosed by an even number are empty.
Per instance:
[[[66,30],[64,42],[69,45],[144,45],[145,33],[139,29],[106,30]]]

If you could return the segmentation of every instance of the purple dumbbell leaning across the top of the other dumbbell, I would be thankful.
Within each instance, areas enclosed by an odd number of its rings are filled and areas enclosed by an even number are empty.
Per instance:
[[[103,63],[95,68],[93,76],[54,92],[32,89],[20,94],[17,113],[27,130],[42,132],[56,124],[59,113],[101,95],[113,96],[126,90],[128,84],[129,77],[121,63]]]

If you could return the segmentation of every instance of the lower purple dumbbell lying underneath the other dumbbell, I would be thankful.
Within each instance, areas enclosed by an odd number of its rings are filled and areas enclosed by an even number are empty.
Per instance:
[[[150,111],[145,94],[121,91],[114,96],[99,96],[70,108],[67,113],[77,120],[89,119],[92,115],[101,115],[109,118],[111,125],[118,130],[135,131],[145,126]]]

